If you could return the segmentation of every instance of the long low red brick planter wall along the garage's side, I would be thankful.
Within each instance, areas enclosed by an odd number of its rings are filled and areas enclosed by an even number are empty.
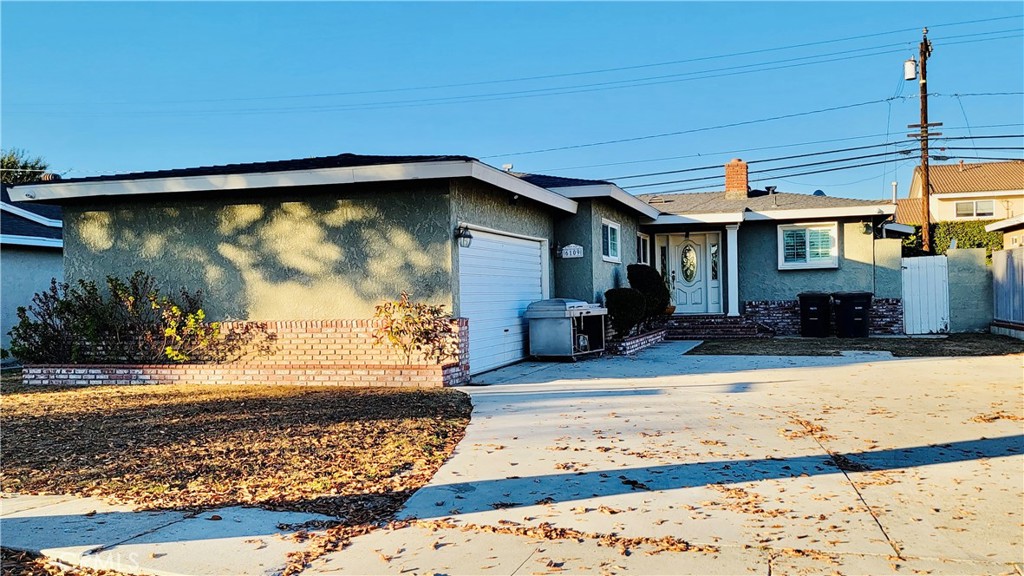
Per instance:
[[[410,362],[373,337],[376,320],[266,322],[276,351],[227,364],[37,365],[22,372],[26,384],[151,383],[314,384],[342,386],[457,386],[469,382],[469,321],[459,324],[459,358],[439,366]],[[229,329],[239,323],[224,323]]]

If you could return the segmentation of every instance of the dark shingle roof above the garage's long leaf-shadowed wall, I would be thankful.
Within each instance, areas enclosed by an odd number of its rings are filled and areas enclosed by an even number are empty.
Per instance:
[[[87,176],[82,178],[66,178],[67,182],[96,182],[114,180],[140,180],[147,178],[175,178],[183,176],[213,176],[221,174],[249,174],[253,172],[285,172],[289,170],[315,170],[318,168],[354,168],[356,166],[379,166],[382,164],[412,164],[417,162],[469,162],[476,160],[469,156],[365,156],[359,154],[339,154],[336,156],[318,156],[314,158],[299,158],[295,160],[274,160],[270,162],[248,162],[244,164],[221,164],[217,166],[197,166],[194,168],[175,168],[171,170],[153,170],[146,172],[128,172],[104,176]],[[33,183],[54,183],[33,182]],[[23,184],[32,186],[32,184]]]

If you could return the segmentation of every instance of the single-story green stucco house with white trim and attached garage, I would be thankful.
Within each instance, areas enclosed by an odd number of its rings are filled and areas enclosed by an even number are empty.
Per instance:
[[[794,333],[800,292],[864,290],[877,296],[877,331],[899,330],[887,324],[900,310],[899,241],[876,238],[891,203],[751,191],[741,161],[727,176],[720,193],[634,197],[465,156],[343,154],[12,195],[63,207],[70,281],[142,270],[201,288],[212,318],[332,331],[408,290],[468,319],[472,373],[525,357],[531,301],[600,302],[637,261],[663,272],[679,315]],[[560,257],[565,247],[583,257]],[[322,332],[317,349],[353,346]]]

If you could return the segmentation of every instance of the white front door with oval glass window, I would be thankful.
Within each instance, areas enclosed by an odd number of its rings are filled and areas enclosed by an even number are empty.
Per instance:
[[[676,314],[721,314],[721,250],[718,233],[671,235],[669,287]]]

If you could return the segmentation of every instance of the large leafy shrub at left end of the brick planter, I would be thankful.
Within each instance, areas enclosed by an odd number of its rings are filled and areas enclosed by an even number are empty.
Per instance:
[[[228,362],[268,354],[273,335],[260,323],[223,331],[208,322],[202,293],[181,289],[177,300],[136,272],[106,278],[106,290],[80,280],[56,280],[17,310],[10,353],[27,364],[163,364]]]

